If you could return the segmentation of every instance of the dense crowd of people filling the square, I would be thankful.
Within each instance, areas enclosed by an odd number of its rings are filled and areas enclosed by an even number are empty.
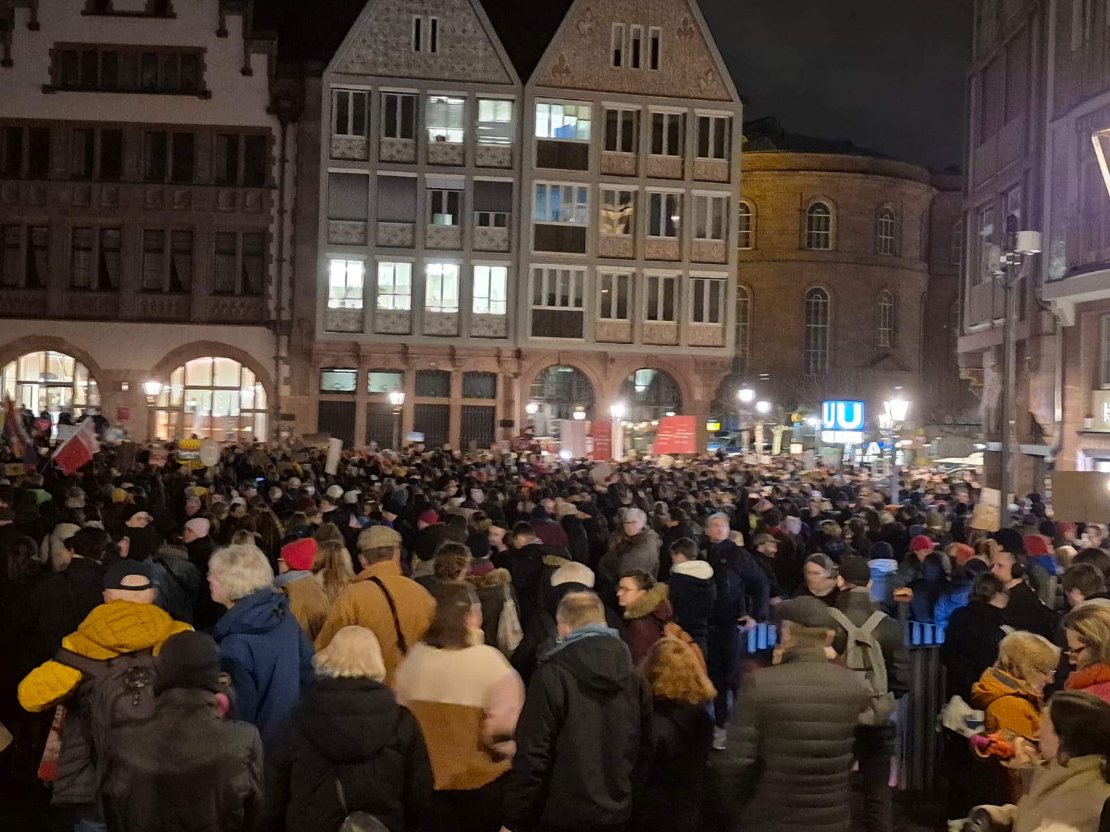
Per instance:
[[[892,832],[907,618],[948,816],[1110,829],[1110,541],[1037,495],[987,531],[925,473],[147,453],[0,479],[2,781],[75,830]]]

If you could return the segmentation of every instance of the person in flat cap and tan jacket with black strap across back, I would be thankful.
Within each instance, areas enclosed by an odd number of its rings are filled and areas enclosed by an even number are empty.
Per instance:
[[[408,649],[423,638],[435,616],[435,599],[420,584],[401,574],[401,535],[385,526],[359,532],[362,571],[340,593],[316,636],[316,652],[349,625],[374,631],[382,646],[385,684]]]

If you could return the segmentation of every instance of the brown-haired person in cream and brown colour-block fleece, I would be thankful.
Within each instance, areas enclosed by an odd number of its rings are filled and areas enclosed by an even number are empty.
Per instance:
[[[441,584],[435,597],[432,626],[397,668],[394,690],[427,742],[436,829],[497,832],[524,684],[482,643],[482,606],[467,584]]]

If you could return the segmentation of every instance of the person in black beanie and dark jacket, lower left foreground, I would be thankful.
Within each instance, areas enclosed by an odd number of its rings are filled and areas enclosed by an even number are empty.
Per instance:
[[[108,829],[253,832],[262,810],[262,740],[254,726],[223,716],[215,642],[179,632],[162,643],[154,668],[153,717],[119,727],[98,749]]]

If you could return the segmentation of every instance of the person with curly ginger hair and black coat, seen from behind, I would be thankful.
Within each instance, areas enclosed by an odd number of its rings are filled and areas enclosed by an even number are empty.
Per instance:
[[[672,636],[652,646],[643,673],[652,690],[650,748],[629,829],[698,832],[713,747],[707,706],[717,691],[694,648]]]

